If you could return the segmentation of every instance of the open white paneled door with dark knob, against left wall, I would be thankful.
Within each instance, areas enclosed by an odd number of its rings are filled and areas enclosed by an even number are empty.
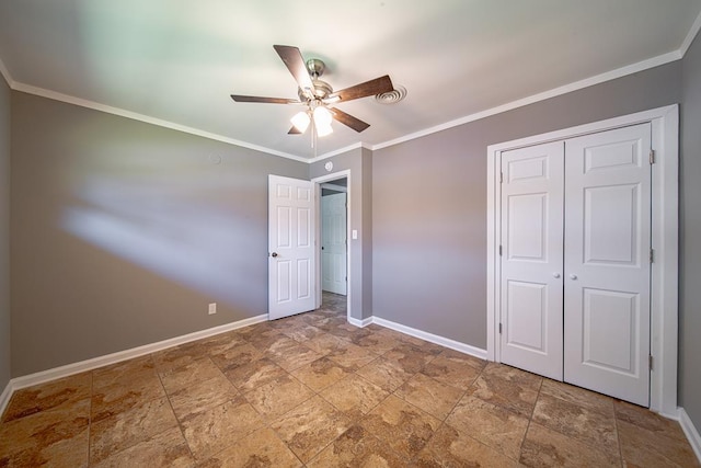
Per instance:
[[[312,310],[314,295],[314,185],[268,178],[268,318]]]

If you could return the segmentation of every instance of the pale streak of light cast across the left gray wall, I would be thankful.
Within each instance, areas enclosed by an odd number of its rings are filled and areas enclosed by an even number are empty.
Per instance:
[[[250,254],[260,242],[252,241],[257,236],[250,233],[245,214],[238,218],[235,210],[193,196],[211,193],[211,183],[202,176],[159,182],[91,174],[78,185],[77,203],[65,208],[61,224],[112,254],[241,306],[241,290],[260,289],[261,278],[251,274],[261,270],[260,262]]]

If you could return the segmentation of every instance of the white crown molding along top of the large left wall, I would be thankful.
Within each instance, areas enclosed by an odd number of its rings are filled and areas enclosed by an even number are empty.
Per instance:
[[[186,125],[176,124],[174,122],[164,121],[162,118],[151,117],[148,115],[139,114],[137,112],[126,111],[119,107],[113,107],[111,105],[101,104],[99,102],[89,101],[80,98],[76,98],[68,94],[62,94],[56,91],[46,90],[43,88],[36,88],[24,83],[15,83],[12,87],[16,91],[22,91],[28,94],[38,95],[42,98],[51,99],[54,101],[66,102],[68,104],[78,105],[81,107],[92,109],[94,111],[104,112],[107,114],[118,115],[120,117],[131,118],[134,121],[145,122],[147,124],[158,125],[160,127],[170,128],[172,130],[182,132],[189,135],[195,135],[203,138],[208,138],[215,141],[221,141],[229,145],[240,146],[242,148],[252,149],[254,151],[265,152],[267,155],[279,156],[283,158],[294,159],[295,161],[308,162],[308,158],[302,158],[299,156],[290,155],[288,152],[277,151],[275,149],[262,147],[258,145],[253,145],[246,141],[225,137],[222,135],[212,134],[210,132],[200,130],[197,128],[188,127]]]

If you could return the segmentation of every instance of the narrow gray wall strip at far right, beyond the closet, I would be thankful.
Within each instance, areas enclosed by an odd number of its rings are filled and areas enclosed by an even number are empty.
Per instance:
[[[682,62],[679,406],[701,430],[701,37]]]

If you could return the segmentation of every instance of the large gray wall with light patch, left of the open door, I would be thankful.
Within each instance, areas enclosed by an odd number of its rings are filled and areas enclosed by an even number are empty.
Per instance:
[[[308,164],[13,92],[12,375],[266,313],[268,173]]]

